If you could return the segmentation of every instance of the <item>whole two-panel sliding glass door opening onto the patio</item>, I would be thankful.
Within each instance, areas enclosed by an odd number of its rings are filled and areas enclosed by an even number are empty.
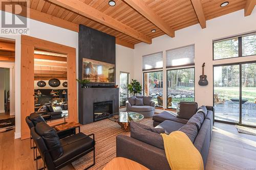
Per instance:
[[[214,66],[215,119],[256,127],[256,63]]]

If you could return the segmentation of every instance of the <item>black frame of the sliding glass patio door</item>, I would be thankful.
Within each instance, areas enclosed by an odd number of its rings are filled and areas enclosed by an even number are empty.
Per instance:
[[[214,67],[217,66],[229,66],[229,65],[239,65],[239,100],[242,100],[242,64],[249,64],[249,63],[256,63],[256,60],[251,60],[251,61],[242,61],[242,62],[227,62],[223,64],[213,64],[212,65],[212,83],[214,83]],[[214,107],[214,84],[212,86],[212,106]],[[240,125],[240,126],[245,126],[245,127],[251,127],[251,128],[256,128],[256,126],[251,126],[247,124],[242,124],[242,103],[239,102],[239,122],[234,123],[234,122],[228,122],[225,120],[218,120],[215,119],[216,122],[219,123],[225,123],[225,124],[231,124],[231,125]]]

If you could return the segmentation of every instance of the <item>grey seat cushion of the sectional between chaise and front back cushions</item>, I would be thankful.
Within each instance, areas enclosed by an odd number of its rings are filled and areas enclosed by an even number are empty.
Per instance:
[[[182,124],[182,123],[174,122],[172,120],[164,120],[164,122],[162,122],[161,124],[159,124],[155,128],[164,129],[164,133],[170,134],[173,131],[179,130],[182,126],[184,126],[184,124]]]

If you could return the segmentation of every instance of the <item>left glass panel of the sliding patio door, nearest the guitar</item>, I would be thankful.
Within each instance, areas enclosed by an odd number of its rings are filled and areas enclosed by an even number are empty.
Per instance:
[[[239,65],[214,67],[215,119],[239,123]]]

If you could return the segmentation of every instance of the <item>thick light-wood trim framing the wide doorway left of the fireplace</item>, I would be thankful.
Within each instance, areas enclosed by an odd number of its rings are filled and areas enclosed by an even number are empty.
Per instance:
[[[21,137],[30,137],[25,117],[34,112],[34,49],[49,50],[67,55],[68,105],[70,122],[77,122],[76,48],[22,35],[20,70],[20,119]]]

